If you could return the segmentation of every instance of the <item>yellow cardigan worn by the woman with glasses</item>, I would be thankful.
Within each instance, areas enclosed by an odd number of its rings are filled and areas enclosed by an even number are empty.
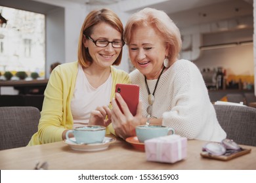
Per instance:
[[[28,146],[62,141],[62,133],[73,128],[70,103],[75,89],[78,72],[77,61],[58,65],[49,78],[39,120],[38,131],[32,136]],[[112,92],[110,101],[115,97],[117,83],[131,83],[124,71],[111,67]],[[106,133],[114,133],[112,124]]]

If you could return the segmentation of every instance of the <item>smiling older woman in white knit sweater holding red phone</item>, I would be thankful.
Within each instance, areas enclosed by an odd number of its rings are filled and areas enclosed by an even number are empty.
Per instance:
[[[112,100],[112,125],[116,135],[135,136],[135,127],[158,124],[173,127],[188,139],[221,141],[226,133],[219,125],[202,75],[191,61],[178,59],[179,28],[161,10],[144,8],[125,25],[124,40],[136,70],[132,84],[140,87],[140,102],[133,116],[119,93]]]

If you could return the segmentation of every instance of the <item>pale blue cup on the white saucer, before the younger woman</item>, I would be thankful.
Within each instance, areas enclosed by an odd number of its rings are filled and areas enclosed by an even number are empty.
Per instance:
[[[68,137],[70,133],[74,134],[75,141]],[[84,127],[75,127],[66,133],[66,139],[77,144],[102,143],[105,137],[106,127],[101,125],[87,125]]]

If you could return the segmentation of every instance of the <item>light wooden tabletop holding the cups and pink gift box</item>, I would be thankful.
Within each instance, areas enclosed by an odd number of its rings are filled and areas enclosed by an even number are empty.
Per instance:
[[[202,158],[205,141],[188,141],[188,156],[174,164],[146,161],[145,152],[135,150],[125,141],[117,140],[107,150],[97,152],[75,151],[64,142],[27,146],[0,151],[0,169],[34,169],[37,161],[47,161],[49,169],[256,169],[256,147],[251,152],[230,161]]]

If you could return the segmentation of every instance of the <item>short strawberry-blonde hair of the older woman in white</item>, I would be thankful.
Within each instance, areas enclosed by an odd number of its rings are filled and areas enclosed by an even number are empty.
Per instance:
[[[124,41],[128,46],[134,29],[140,26],[153,27],[163,37],[165,44],[169,44],[169,63],[173,63],[179,58],[182,44],[181,33],[165,12],[154,8],[144,8],[133,14],[127,21],[123,34]]]

